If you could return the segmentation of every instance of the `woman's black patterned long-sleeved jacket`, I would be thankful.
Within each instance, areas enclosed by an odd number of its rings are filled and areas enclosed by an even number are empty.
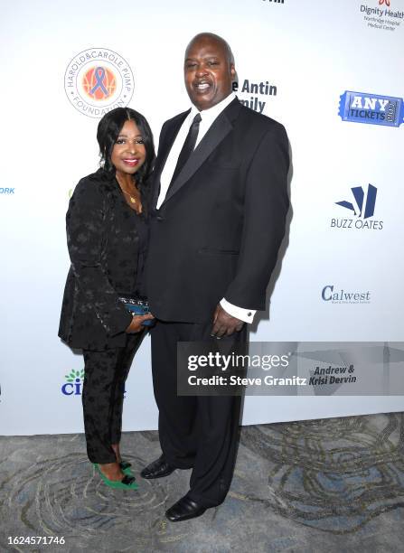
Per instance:
[[[115,176],[99,169],[76,186],[66,227],[71,266],[59,336],[73,348],[124,346],[132,316],[117,297],[141,286],[146,217],[127,205]]]

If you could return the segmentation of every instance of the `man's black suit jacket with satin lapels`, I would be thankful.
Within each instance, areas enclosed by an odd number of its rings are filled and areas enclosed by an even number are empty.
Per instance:
[[[154,205],[167,155],[188,114],[162,128]],[[146,289],[157,318],[205,323],[222,297],[246,309],[265,309],[285,234],[288,166],[285,128],[234,99],[203,136],[160,209],[152,211]]]

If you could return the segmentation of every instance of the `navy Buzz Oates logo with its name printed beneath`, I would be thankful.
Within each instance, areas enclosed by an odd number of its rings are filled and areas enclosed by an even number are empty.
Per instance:
[[[351,201],[335,202],[346,213],[350,213],[351,217],[334,218],[331,220],[330,227],[332,229],[382,230],[383,221],[373,219],[378,192],[376,186],[368,184],[367,190],[364,190],[362,186],[354,186],[351,192]]]

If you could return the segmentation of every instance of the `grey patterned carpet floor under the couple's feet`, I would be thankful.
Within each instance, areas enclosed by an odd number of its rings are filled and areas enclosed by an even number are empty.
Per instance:
[[[157,433],[125,433],[122,451],[139,473]],[[83,435],[0,437],[0,551],[404,552],[402,413],[244,426],[226,501],[170,523],[189,476],[111,490]],[[64,543],[10,543],[30,536]]]

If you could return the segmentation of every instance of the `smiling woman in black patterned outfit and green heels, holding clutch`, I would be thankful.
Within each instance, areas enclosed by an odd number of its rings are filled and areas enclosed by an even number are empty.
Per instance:
[[[119,452],[125,381],[152,314],[132,316],[118,297],[142,295],[146,179],[155,159],[146,118],[117,108],[99,121],[101,168],[80,180],[66,215],[70,271],[59,336],[84,355],[89,460],[111,487],[136,489]]]

